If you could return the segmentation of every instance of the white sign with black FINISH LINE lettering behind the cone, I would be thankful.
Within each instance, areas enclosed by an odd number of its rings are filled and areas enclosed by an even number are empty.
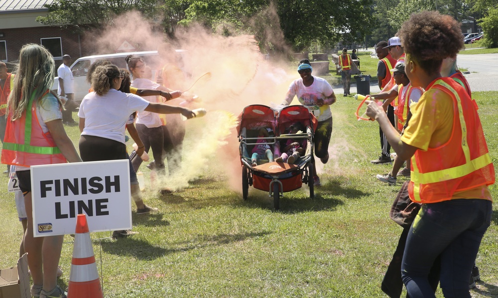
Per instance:
[[[74,234],[80,213],[90,232],[131,229],[128,162],[31,166],[34,237]]]

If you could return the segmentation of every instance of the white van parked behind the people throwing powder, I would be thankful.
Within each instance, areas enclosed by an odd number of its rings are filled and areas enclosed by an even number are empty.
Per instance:
[[[184,55],[186,50],[176,50],[179,53],[183,61],[186,61]],[[73,72],[74,77],[74,100],[80,104],[83,100],[83,97],[88,94],[88,90],[90,89],[90,84],[86,82],[88,68],[92,63],[99,59],[108,59],[113,64],[118,66],[119,68],[126,68],[126,62],[124,58],[128,55],[136,55],[143,58],[145,63],[149,65],[152,69],[153,78],[155,78],[155,71],[157,67],[160,67],[161,61],[159,59],[159,55],[157,51],[144,51],[144,52],[127,52],[127,53],[115,53],[115,54],[105,54],[105,55],[93,55],[78,58],[76,61],[69,66],[71,71]],[[52,91],[57,94],[57,89],[59,88],[59,78],[56,77],[54,81],[54,85],[52,86]]]

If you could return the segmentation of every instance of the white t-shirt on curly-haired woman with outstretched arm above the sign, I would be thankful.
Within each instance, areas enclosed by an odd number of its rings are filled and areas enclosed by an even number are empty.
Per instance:
[[[85,118],[82,135],[115,140],[124,144],[124,127],[129,115],[143,111],[149,102],[131,93],[110,89],[103,96],[87,94],[80,105],[78,117]]]

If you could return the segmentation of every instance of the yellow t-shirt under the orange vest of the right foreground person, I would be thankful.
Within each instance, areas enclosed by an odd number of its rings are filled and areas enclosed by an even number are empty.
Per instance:
[[[411,108],[411,107],[410,107]],[[412,117],[401,141],[419,150],[437,148],[448,142],[453,130],[453,99],[447,93],[431,88],[411,108]],[[488,186],[455,192],[452,199],[492,200]]]

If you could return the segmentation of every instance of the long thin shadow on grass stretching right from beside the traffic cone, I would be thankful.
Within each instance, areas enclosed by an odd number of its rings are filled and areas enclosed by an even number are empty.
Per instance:
[[[171,248],[162,248],[151,245],[142,239],[129,237],[121,238],[117,241],[102,242],[102,250],[118,256],[133,256],[140,260],[154,260],[168,254],[187,252],[213,245],[241,242],[249,238],[258,238],[269,234],[271,232],[262,231],[242,234],[199,235],[188,242],[172,244]]]

